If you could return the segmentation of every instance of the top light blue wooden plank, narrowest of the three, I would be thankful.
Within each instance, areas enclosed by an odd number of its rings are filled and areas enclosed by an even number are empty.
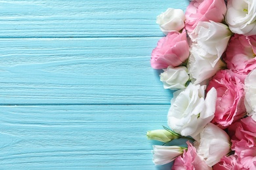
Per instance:
[[[188,1],[0,1],[2,37],[160,37],[156,16]]]

